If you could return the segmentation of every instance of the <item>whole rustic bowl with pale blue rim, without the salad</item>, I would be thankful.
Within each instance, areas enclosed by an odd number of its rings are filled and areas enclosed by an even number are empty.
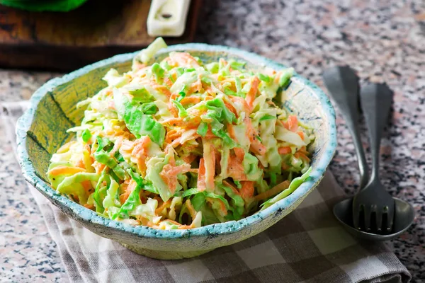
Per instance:
[[[155,59],[162,59],[171,51],[191,52],[205,62],[225,59],[244,61],[251,69],[285,66],[259,55],[230,47],[186,44],[161,50]],[[23,175],[50,202],[87,229],[111,238],[130,250],[150,258],[191,258],[221,246],[231,245],[256,235],[292,212],[316,187],[324,175],[336,149],[335,113],[327,96],[313,83],[295,74],[283,94],[283,107],[297,114],[303,122],[314,127],[316,139],[310,147],[312,172],[310,178],[291,195],[271,207],[239,221],[228,221],[189,230],[156,230],[146,226],[130,226],[98,216],[96,212],[72,202],[46,183],[45,172],[52,156],[65,141],[72,139],[66,130],[78,124],[83,112],[76,110],[80,100],[94,96],[106,83],[101,78],[111,67],[128,71],[135,53],[120,54],[52,79],[38,89],[31,98],[31,107],[18,121],[16,133],[18,156]]]

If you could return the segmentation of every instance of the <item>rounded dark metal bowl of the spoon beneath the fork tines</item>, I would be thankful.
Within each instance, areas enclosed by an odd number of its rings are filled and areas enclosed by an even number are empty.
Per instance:
[[[390,233],[375,234],[355,229],[353,227],[353,197],[341,200],[341,202],[335,204],[334,215],[344,225],[344,228],[357,238],[368,241],[387,241],[397,238],[397,236],[404,233],[414,221],[414,209],[412,205],[397,197],[393,197],[393,199],[395,201],[395,218]]]

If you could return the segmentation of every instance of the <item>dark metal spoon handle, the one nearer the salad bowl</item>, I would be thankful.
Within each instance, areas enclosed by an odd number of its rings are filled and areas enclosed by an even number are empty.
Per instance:
[[[356,148],[358,170],[360,171],[360,189],[368,183],[368,163],[366,163],[363,144],[358,131],[358,76],[348,67],[332,67],[323,73],[331,98],[341,110]]]

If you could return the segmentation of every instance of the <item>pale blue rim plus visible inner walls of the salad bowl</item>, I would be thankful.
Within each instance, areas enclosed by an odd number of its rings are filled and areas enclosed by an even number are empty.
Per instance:
[[[220,57],[236,59],[246,62],[249,69],[270,67],[278,70],[285,68],[281,64],[256,54],[229,47],[203,44],[174,45],[159,52],[157,57],[152,60],[162,59],[171,51],[191,52],[204,62],[216,61]],[[302,122],[314,128],[315,139],[309,148],[312,152],[313,170],[307,182],[298,187],[293,194],[259,214],[239,221],[229,221],[225,224],[192,229],[190,232],[179,230],[157,233],[157,231],[152,231],[153,229],[144,226],[130,227],[117,221],[104,219],[89,209],[58,195],[45,183],[47,181],[45,172],[52,154],[62,144],[74,137],[74,134],[67,134],[66,131],[70,127],[78,125],[84,115],[82,110],[76,109],[76,104],[87,97],[94,96],[106,86],[106,83],[101,79],[109,69],[115,68],[119,72],[128,71],[134,55],[134,53],[117,55],[74,71],[62,78],[49,81],[33,95],[31,108],[18,122],[18,155],[21,159],[23,175],[69,216],[81,221],[108,226],[117,229],[117,232],[119,230],[120,233],[130,232],[137,236],[152,238],[183,238],[189,234],[191,236],[205,236],[210,233],[233,233],[271,216],[272,213],[281,212],[288,208],[292,210],[319,183],[336,148],[334,110],[327,96],[317,86],[295,74],[292,83],[280,94],[280,98],[285,101],[282,105],[283,108],[298,115]],[[42,180],[45,182],[42,182]],[[266,227],[264,226],[263,229],[266,229]]]

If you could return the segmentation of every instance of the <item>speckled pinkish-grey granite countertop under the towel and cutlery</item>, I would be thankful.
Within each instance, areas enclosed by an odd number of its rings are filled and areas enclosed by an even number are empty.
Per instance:
[[[414,282],[425,280],[425,2],[204,3],[198,42],[241,47],[276,59],[322,88],[324,68],[349,64],[362,79],[386,81],[395,91],[392,122],[382,141],[382,179],[392,195],[414,205],[416,221],[387,244],[412,272]],[[0,70],[0,101],[28,99],[58,75]],[[341,116],[338,125],[339,147],[331,170],[351,194],[358,182],[354,147]],[[2,126],[0,184],[0,282],[67,282]]]

